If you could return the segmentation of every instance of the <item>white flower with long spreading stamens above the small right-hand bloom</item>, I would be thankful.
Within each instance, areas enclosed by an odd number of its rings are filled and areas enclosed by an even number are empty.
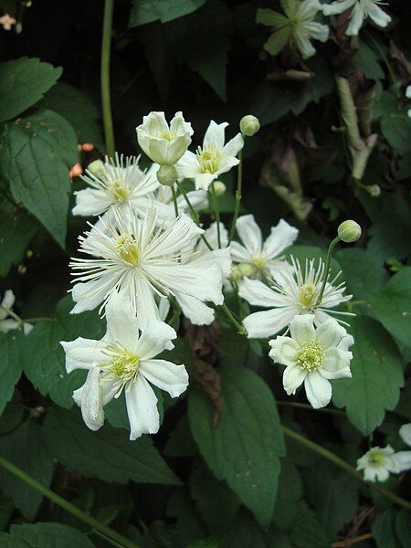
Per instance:
[[[254,312],[244,319],[249,338],[269,337],[287,327],[298,314],[313,314],[316,325],[327,321],[330,313],[352,315],[331,310],[352,298],[352,295],[343,295],[343,282],[334,285],[341,272],[332,281],[327,281],[321,302],[318,302],[324,278],[324,263],[319,259],[318,267],[315,268],[315,260],[307,260],[303,274],[299,261],[291,260],[293,269],[285,263],[286,266],[271,271],[273,283],[270,287],[258,279],[245,278],[240,283],[240,297],[254,306],[270,309]]]

